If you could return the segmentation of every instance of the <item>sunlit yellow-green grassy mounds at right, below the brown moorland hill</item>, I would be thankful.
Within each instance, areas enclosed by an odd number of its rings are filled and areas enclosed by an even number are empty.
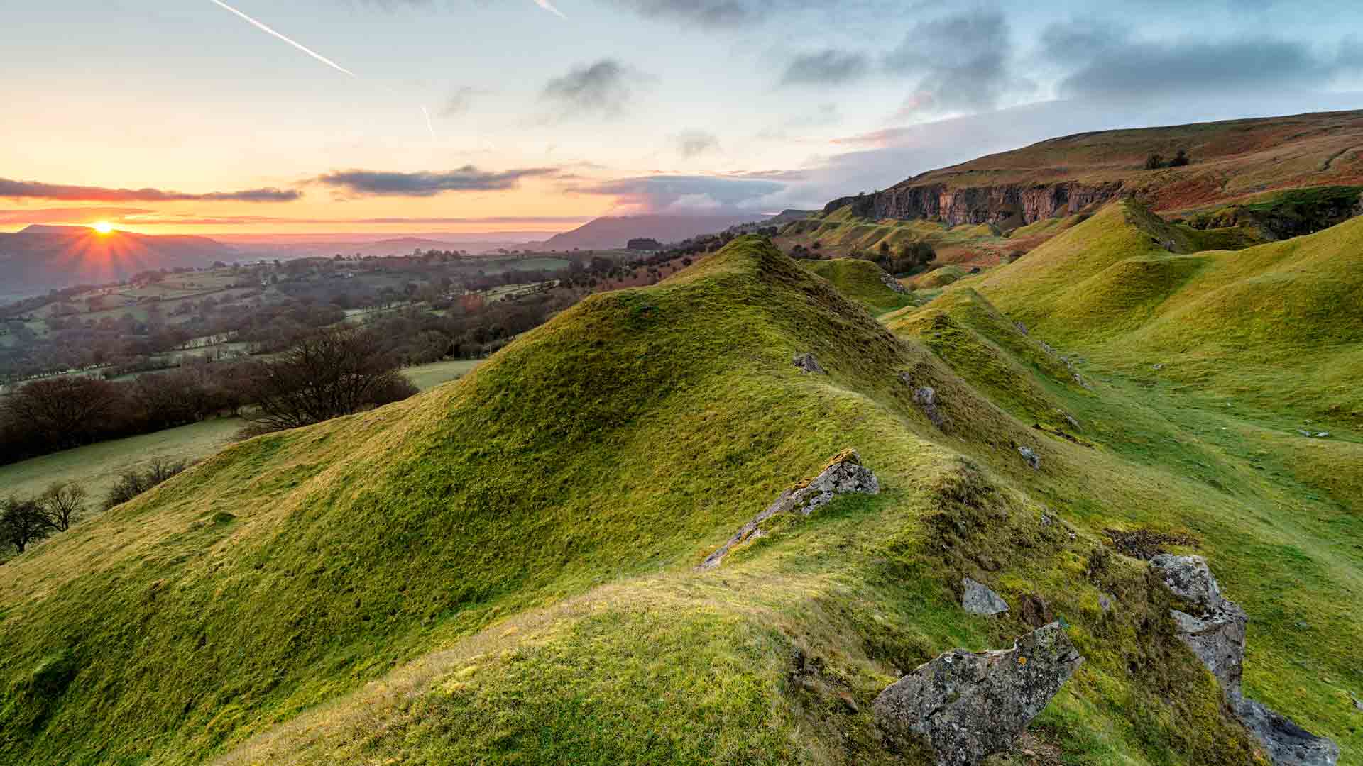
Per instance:
[[[1255,408],[1363,425],[1363,218],[1236,252],[1134,203],[1105,207],[979,290],[1127,372],[1150,371]],[[1172,251],[1172,252],[1171,252]]]

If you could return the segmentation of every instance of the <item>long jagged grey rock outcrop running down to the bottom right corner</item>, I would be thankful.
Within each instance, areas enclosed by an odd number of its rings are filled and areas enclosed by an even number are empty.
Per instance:
[[[1201,556],[1161,553],[1150,559],[1164,585],[1198,613],[1178,609],[1169,613],[1178,635],[1221,684],[1227,705],[1240,722],[1264,743],[1274,766],[1334,766],[1340,748],[1292,722],[1291,718],[1247,699],[1240,691],[1244,662],[1244,626],[1249,617],[1221,587]]]

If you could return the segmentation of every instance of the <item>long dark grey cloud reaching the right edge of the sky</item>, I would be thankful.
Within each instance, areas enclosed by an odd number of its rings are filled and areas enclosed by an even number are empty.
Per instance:
[[[1348,41],[1325,56],[1306,42],[1264,34],[1145,40],[1092,20],[1051,25],[1041,50],[1052,63],[1069,64],[1058,83],[1066,98],[1311,89],[1360,68]]]

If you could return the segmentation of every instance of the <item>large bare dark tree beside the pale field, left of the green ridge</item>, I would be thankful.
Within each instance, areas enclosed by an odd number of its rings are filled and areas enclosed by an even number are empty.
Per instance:
[[[311,425],[416,393],[383,339],[368,330],[307,338],[252,372],[247,394],[258,408],[251,416],[258,432]]]

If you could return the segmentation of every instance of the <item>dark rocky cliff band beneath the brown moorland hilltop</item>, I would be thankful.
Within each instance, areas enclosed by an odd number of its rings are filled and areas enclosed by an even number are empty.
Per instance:
[[[904,183],[871,195],[845,196],[825,206],[833,213],[848,204],[863,218],[928,218],[961,224],[1026,225],[1043,218],[1073,215],[1124,194],[1122,181],[1088,184],[999,184],[951,188],[945,183]]]

